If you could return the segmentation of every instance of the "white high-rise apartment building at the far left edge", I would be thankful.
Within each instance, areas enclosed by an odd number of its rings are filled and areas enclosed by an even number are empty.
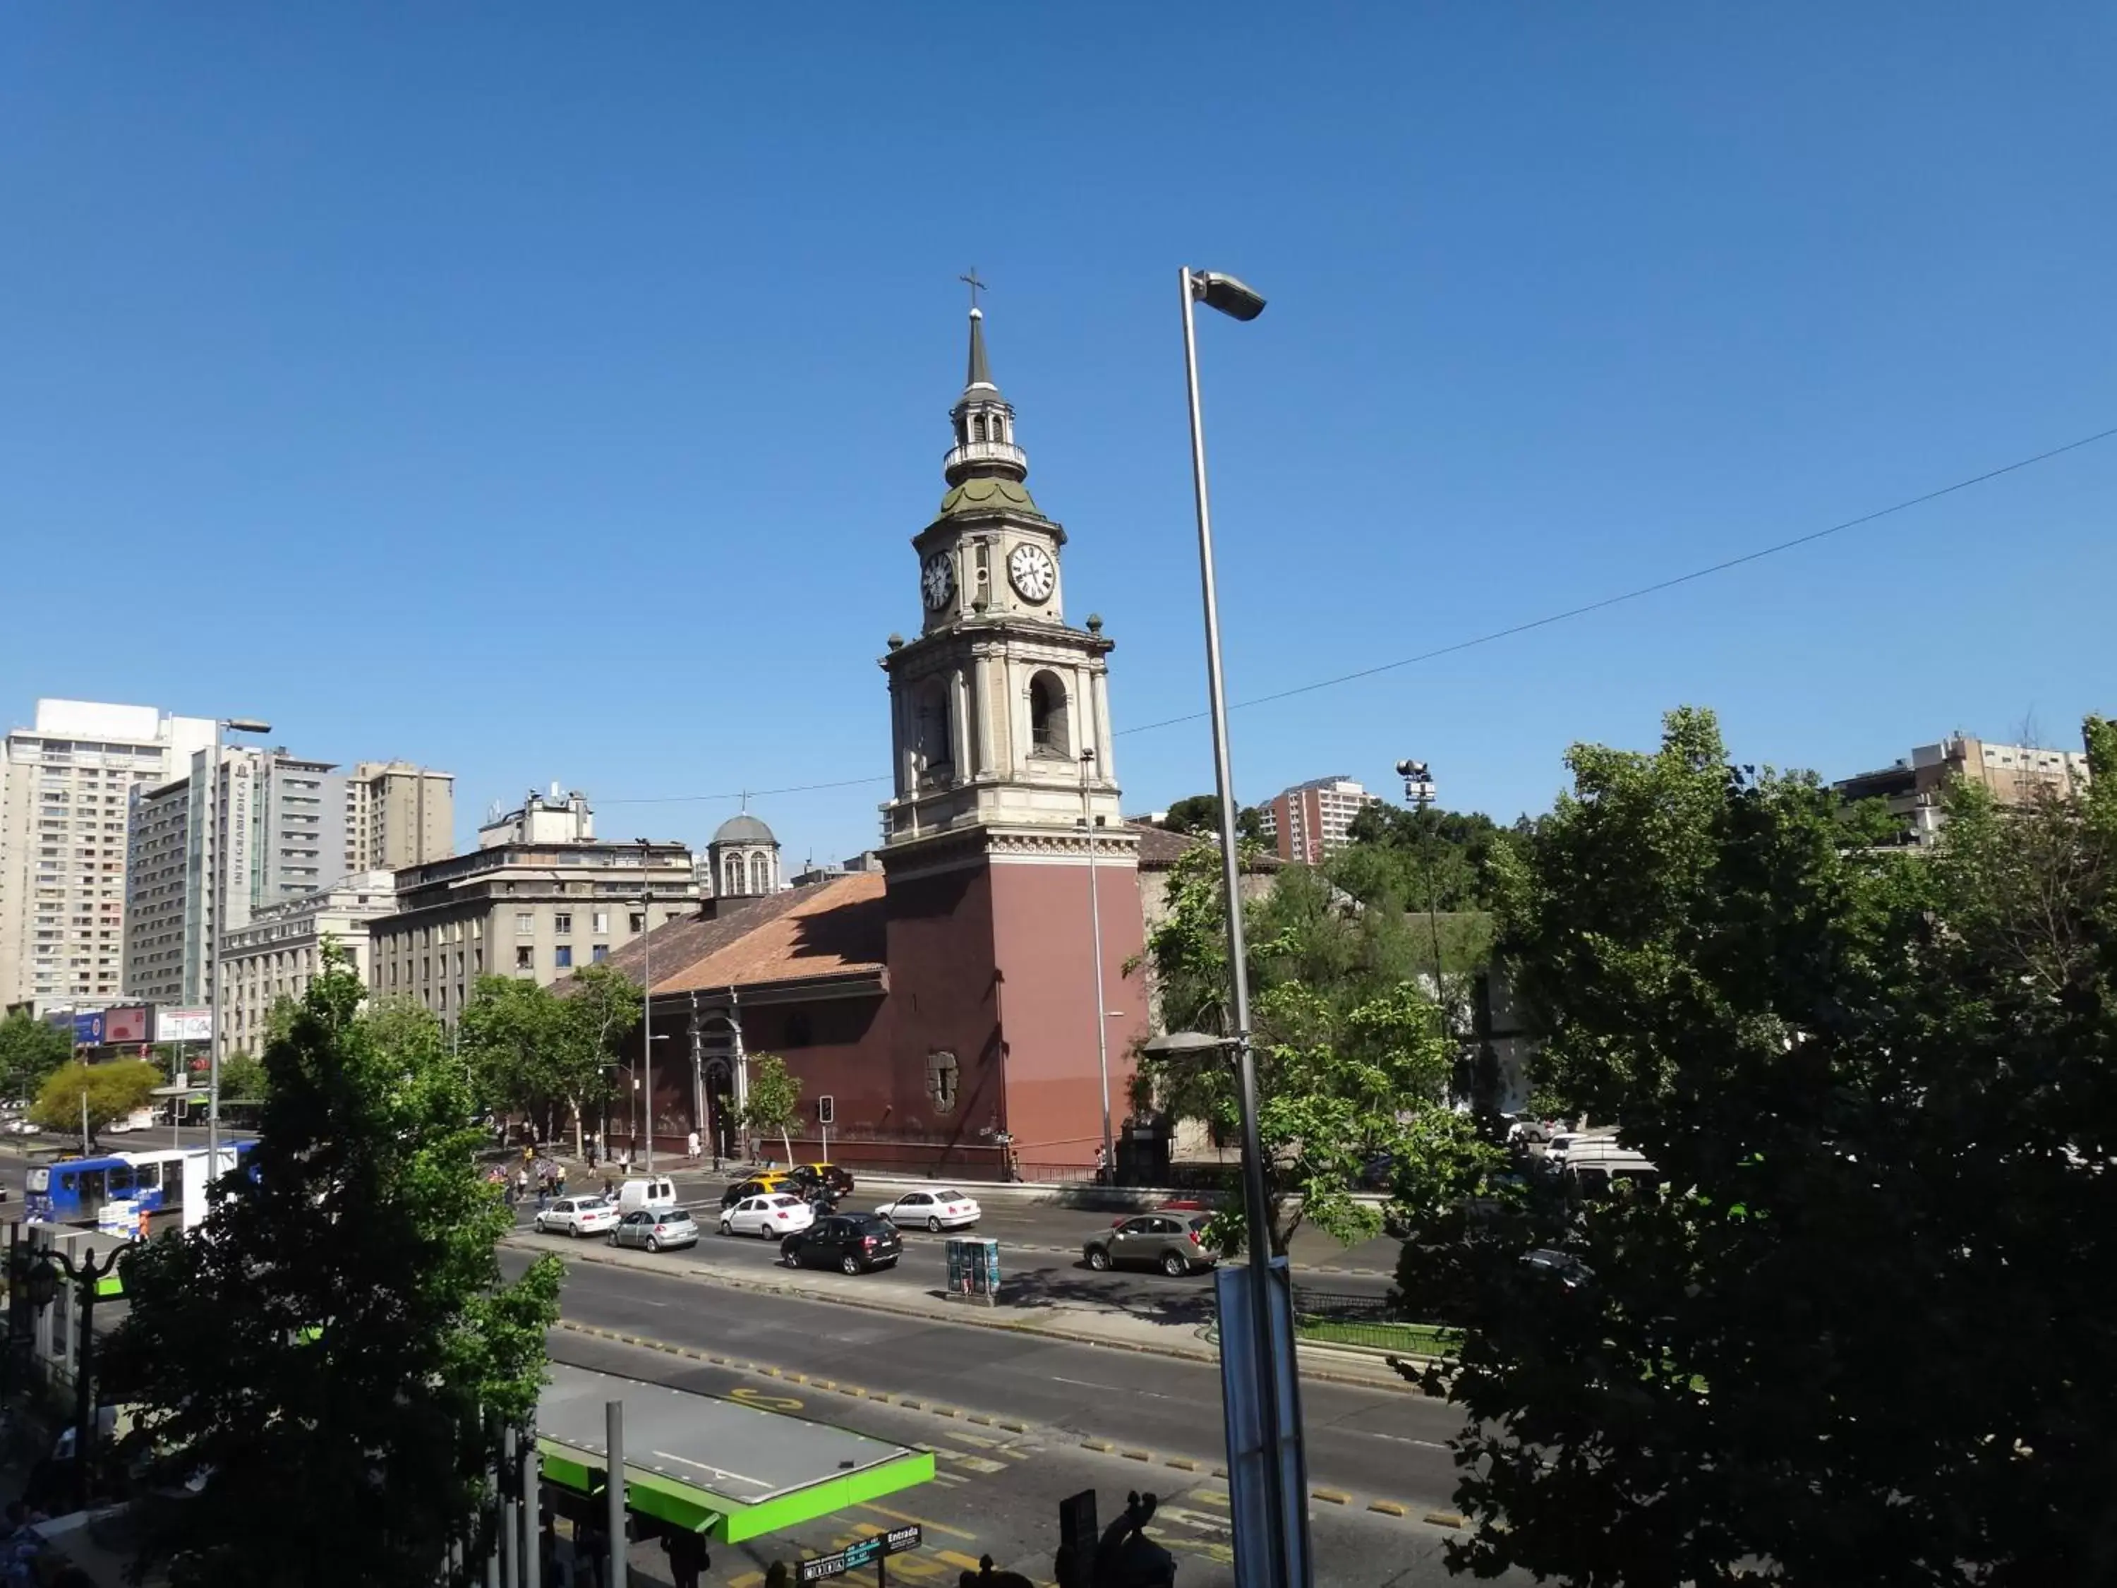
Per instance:
[[[123,995],[133,790],[214,739],[210,718],[150,705],[38,701],[0,760],[0,1006]]]

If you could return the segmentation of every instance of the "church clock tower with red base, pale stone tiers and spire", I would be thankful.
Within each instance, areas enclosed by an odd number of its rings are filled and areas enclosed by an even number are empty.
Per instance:
[[[984,315],[912,536],[919,635],[889,637],[883,805],[891,1067],[942,1165],[1092,1165],[1128,1107],[1145,989],[1139,841],[1118,815],[1103,620],[1065,616],[1065,529],[1029,495]],[[1101,1025],[1101,1031],[1097,1029]],[[1099,1040],[1101,1037],[1101,1040]],[[1107,1069],[1107,1080],[1105,1080]],[[900,1093],[902,1095],[902,1093]]]

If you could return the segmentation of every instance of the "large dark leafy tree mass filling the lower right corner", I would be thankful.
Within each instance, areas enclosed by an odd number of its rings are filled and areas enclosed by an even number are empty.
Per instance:
[[[1433,1378],[1469,1419],[1452,1569],[2117,1580],[2117,735],[2087,741],[2085,796],[1962,794],[1931,858],[1730,766],[1704,711],[1573,750],[1501,862],[1501,949],[1541,1084],[1660,1186],[1406,1247],[1467,1325]]]

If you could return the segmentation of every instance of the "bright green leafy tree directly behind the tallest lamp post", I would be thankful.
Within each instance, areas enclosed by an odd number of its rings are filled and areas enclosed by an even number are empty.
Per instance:
[[[1141,961],[1169,1031],[1232,1033],[1222,900],[1219,853],[1181,855],[1169,915]],[[1450,1046],[1412,980],[1406,925],[1389,910],[1349,908],[1321,877],[1289,868],[1245,908],[1245,934],[1277,1249],[1304,1220],[1340,1241],[1372,1237],[1380,1213],[1353,1196],[1370,1165],[1387,1162],[1399,1194],[1427,1198],[1433,1179],[1452,1181],[1480,1156],[1469,1124],[1442,1105]],[[1241,1086],[1226,1052],[1141,1054],[1137,1090],[1224,1139],[1238,1131]],[[1241,1220],[1222,1217],[1215,1237],[1234,1249]]]

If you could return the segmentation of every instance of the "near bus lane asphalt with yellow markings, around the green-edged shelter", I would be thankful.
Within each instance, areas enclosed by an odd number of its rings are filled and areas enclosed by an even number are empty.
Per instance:
[[[716,1550],[713,1569],[707,1573],[707,1582],[716,1588],[758,1588],[773,1558],[828,1554],[860,1533],[902,1522],[919,1522],[925,1541],[917,1554],[891,1558],[891,1582],[955,1588],[963,1569],[974,1567],[980,1554],[991,1554],[999,1569],[1023,1571],[1031,1582],[1050,1584],[1058,1501],[1082,1488],[1097,1491],[1105,1522],[1122,1510],[1128,1491],[1152,1491],[1160,1497],[1160,1510],[1147,1533],[1175,1552],[1177,1584],[1181,1588],[1234,1584],[1228,1488],[1211,1476],[1215,1461],[1196,1472],[1130,1461],[1120,1452],[1086,1450],[1069,1436],[1035,1423],[1023,1433],[997,1425],[972,1425],[929,1410],[855,1400],[836,1389],[701,1366],[569,1330],[555,1330],[550,1349],[555,1359],[582,1368],[631,1374],[707,1395],[732,1395],[754,1406],[832,1421],[936,1452],[934,1484],[891,1495],[874,1505],[851,1508],[828,1522],[773,1539]],[[1310,1423],[1315,1416],[1310,1406]],[[1365,1510],[1365,1501],[1310,1508],[1315,1580],[1321,1588],[1440,1588],[1450,1582],[1442,1548],[1452,1537],[1461,1535],[1423,1522],[1416,1512],[1406,1518],[1387,1516]],[[639,1582],[669,1582],[658,1548],[635,1548],[633,1567]],[[1528,1580],[1501,1577],[1501,1582]]]

